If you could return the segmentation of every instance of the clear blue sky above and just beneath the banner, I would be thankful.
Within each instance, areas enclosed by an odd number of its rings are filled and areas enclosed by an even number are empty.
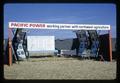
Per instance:
[[[4,38],[8,38],[8,22],[106,24],[116,37],[116,6],[114,4],[5,4]],[[100,34],[108,31],[100,31]],[[71,30],[29,30],[27,35],[54,35],[56,39],[75,38]]]

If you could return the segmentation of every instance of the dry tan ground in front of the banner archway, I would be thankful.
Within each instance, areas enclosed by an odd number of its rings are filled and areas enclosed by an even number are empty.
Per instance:
[[[4,65],[5,79],[116,79],[116,61],[77,58],[30,58],[12,66]]]

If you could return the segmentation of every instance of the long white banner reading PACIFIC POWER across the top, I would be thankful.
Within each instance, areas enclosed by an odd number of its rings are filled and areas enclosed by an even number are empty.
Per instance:
[[[110,30],[110,25],[9,22],[9,28]]]

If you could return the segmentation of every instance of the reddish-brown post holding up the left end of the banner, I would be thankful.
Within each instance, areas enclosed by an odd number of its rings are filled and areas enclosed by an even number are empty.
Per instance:
[[[9,54],[8,54],[8,59],[9,59],[9,61],[8,61],[8,64],[9,64],[9,66],[11,66],[12,65],[12,48],[11,48],[11,45],[12,45],[12,40],[11,40],[11,31],[10,31],[10,28],[8,28],[9,30],[8,30],[8,33],[9,33],[9,38],[8,38],[8,47],[9,47]]]

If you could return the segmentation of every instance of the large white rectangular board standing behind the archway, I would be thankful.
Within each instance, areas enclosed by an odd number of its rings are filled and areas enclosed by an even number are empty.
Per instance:
[[[55,50],[54,36],[27,36],[28,51],[53,51]]]

